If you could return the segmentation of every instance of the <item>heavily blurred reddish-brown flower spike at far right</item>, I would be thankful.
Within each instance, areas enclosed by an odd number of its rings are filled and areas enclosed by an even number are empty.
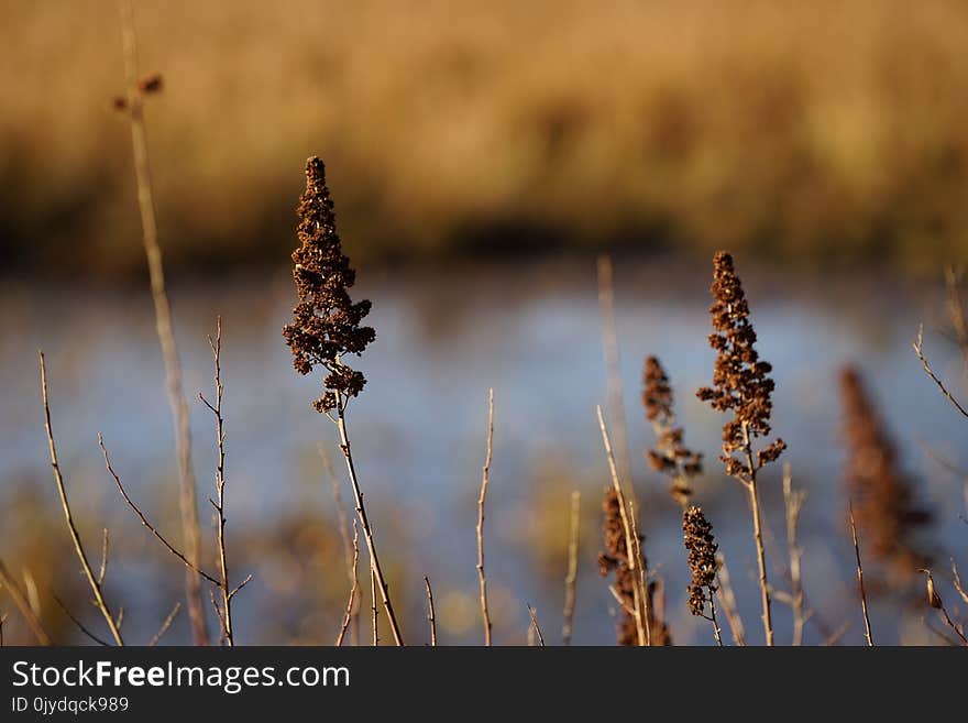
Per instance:
[[[911,480],[899,469],[897,449],[857,370],[843,371],[840,396],[847,442],[845,478],[857,525],[875,559],[888,565],[894,577],[909,578],[928,560],[913,535],[931,516],[915,506]]]

